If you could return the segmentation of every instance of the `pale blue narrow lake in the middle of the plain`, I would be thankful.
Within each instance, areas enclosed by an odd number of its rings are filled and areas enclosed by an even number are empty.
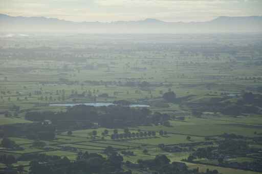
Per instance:
[[[57,104],[50,104],[50,106],[76,106],[76,105],[86,105],[86,106],[109,106],[109,105],[116,105],[114,103],[57,103]],[[129,107],[150,107],[149,105],[145,104],[130,104]]]

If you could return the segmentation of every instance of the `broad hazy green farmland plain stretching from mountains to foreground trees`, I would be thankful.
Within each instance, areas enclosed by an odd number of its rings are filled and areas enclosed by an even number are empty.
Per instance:
[[[1,147],[0,155],[74,161],[80,151],[106,158],[110,146],[125,169],[127,161],[165,155],[200,171],[260,173],[232,163],[262,160],[261,47],[259,34],[1,37],[0,135],[17,147]],[[164,97],[172,92],[172,100]],[[246,154],[225,155],[221,163],[215,152],[227,151],[227,140],[245,142]],[[208,147],[210,156],[198,154]],[[29,163],[11,168],[28,173]]]

